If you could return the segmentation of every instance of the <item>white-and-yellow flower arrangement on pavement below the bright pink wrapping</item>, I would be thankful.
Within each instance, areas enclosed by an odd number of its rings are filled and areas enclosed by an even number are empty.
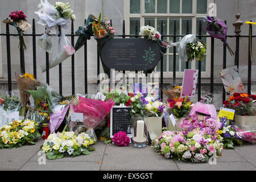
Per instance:
[[[76,135],[73,131],[62,133],[52,133],[44,140],[41,146],[41,151],[46,153],[48,159],[61,159],[64,154],[69,154],[72,157],[77,155],[89,155],[89,150],[95,150],[89,147],[94,143],[94,140],[86,133]]]

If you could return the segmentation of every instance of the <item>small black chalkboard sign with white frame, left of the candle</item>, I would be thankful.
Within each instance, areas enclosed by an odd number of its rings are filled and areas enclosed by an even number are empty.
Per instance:
[[[125,131],[128,137],[133,136],[130,116],[130,106],[113,106],[110,110],[110,138],[115,133]]]

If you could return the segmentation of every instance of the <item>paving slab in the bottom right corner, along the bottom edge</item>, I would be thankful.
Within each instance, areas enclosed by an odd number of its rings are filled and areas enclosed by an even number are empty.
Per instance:
[[[248,162],[218,162],[209,163],[184,163],[176,162],[181,171],[256,171],[256,168]]]

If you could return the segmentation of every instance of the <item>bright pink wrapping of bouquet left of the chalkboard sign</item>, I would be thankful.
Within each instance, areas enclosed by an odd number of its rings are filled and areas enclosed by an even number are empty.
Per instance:
[[[88,129],[86,133],[88,133],[94,141],[97,141],[97,137],[93,129],[95,129],[100,124],[101,120],[109,114],[113,105],[114,102],[112,99],[103,102],[79,97],[79,104],[76,106],[71,104],[71,108],[76,113],[83,113],[84,125]]]

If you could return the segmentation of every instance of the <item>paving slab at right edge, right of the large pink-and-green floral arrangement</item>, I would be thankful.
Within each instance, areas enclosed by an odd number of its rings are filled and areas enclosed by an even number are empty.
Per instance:
[[[235,152],[256,167],[256,144],[245,144],[244,146],[238,146],[236,147]]]

